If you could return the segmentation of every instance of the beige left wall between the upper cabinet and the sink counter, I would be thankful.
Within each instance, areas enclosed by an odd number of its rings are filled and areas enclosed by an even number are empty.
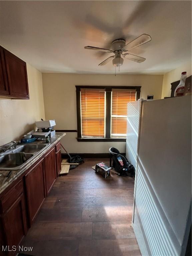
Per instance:
[[[0,98],[0,144],[21,138],[45,118],[42,74],[27,64],[29,100]]]

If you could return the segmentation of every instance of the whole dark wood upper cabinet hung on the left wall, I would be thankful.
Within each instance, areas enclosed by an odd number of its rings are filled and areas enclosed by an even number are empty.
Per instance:
[[[26,62],[0,46],[0,95],[29,99]]]

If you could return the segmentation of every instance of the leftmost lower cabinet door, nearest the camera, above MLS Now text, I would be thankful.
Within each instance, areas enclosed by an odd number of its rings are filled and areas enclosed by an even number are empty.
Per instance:
[[[12,206],[2,215],[2,223],[5,237],[4,247],[6,245],[9,246],[10,249],[12,249],[12,246],[18,247],[22,238],[27,233],[25,200],[23,194],[21,194]],[[14,254],[14,251],[8,252],[8,255]]]

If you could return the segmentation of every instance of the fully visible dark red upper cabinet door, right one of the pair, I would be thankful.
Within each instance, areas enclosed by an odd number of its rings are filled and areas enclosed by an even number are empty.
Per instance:
[[[10,96],[29,99],[26,62],[6,49],[3,51]]]

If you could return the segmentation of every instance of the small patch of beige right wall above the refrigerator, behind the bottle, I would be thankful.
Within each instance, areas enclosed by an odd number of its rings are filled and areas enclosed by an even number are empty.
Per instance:
[[[191,76],[191,62],[188,62],[163,76],[162,99],[171,96],[171,83],[180,80],[181,72],[187,71],[187,76]]]

